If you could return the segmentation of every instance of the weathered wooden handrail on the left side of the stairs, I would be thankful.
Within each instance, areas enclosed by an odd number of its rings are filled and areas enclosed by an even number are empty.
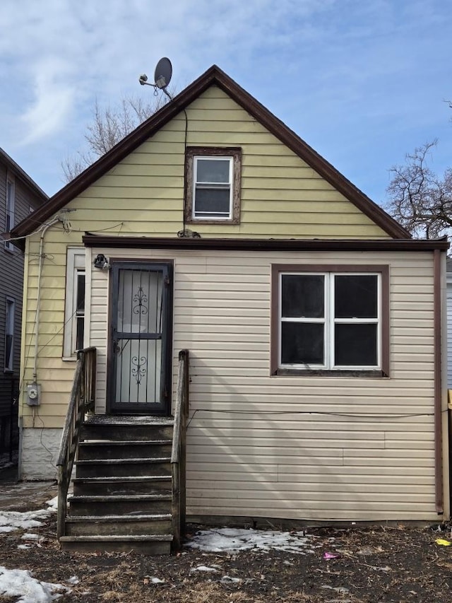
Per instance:
[[[73,377],[71,397],[64,423],[57,461],[58,513],[57,536],[64,536],[67,513],[67,496],[81,426],[85,412],[94,409],[96,389],[96,349],[85,348],[77,352],[76,372]]]

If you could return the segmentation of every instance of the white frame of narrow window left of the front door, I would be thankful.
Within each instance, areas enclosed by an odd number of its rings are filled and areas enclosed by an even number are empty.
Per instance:
[[[85,274],[86,296],[85,250],[81,247],[69,247],[66,257],[66,298],[64,304],[63,360],[76,359],[78,318],[83,317],[83,320],[86,320],[86,301],[83,312],[77,310],[77,277],[79,274]]]

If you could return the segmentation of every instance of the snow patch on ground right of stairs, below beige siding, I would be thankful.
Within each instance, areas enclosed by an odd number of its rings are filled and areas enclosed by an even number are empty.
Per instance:
[[[206,529],[196,532],[186,544],[191,549],[206,553],[237,552],[256,549],[258,551],[285,551],[305,555],[314,552],[313,537],[304,532],[278,532],[257,529]]]

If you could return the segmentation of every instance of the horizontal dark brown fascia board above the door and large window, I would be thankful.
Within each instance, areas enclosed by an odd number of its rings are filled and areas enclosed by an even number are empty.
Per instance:
[[[83,236],[85,247],[116,249],[232,250],[232,251],[432,251],[448,250],[444,239],[198,239]]]

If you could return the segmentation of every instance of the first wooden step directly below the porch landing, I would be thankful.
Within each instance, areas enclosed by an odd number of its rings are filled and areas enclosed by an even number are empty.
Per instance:
[[[157,458],[171,455],[172,440],[85,441],[78,447],[78,459]]]

